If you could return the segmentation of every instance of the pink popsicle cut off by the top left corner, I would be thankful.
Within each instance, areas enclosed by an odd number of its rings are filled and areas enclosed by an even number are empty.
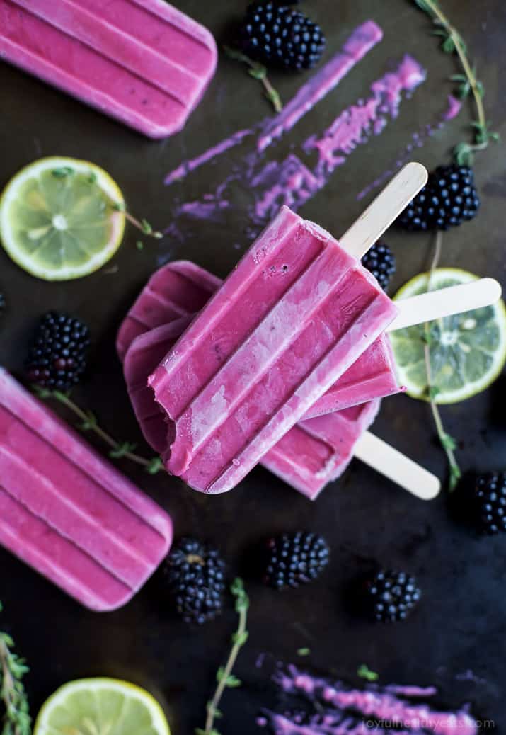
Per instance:
[[[217,49],[165,0],[0,0],[0,57],[160,138],[197,107]]]

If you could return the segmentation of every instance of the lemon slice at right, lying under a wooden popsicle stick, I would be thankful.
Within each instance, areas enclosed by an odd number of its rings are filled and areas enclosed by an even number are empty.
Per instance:
[[[476,281],[478,276],[458,268],[438,268],[431,289]],[[394,301],[427,291],[428,274],[420,273],[394,296]],[[424,326],[391,332],[400,383],[412,398],[427,400]],[[488,388],[506,362],[506,308],[494,306],[438,319],[430,323],[430,366],[438,404],[455,404]]]

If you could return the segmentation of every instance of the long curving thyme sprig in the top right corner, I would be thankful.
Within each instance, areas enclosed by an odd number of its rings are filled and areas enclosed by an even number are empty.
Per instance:
[[[469,61],[469,54],[463,37],[441,10],[438,0],[414,0],[414,2],[427,15],[430,15],[433,24],[436,26],[434,34],[443,39],[441,49],[444,53],[458,56],[463,73],[454,74],[449,78],[451,82],[458,85],[456,94],[461,99],[470,95],[473,98],[477,113],[477,119],[471,123],[471,127],[474,129],[473,142],[466,143],[463,141],[458,143],[453,151],[455,160],[459,165],[471,165],[477,151],[484,151],[485,148],[488,148],[489,143],[499,140],[499,133],[491,129],[492,123],[487,120],[485,115],[483,104],[485,87],[477,78],[476,68]]]

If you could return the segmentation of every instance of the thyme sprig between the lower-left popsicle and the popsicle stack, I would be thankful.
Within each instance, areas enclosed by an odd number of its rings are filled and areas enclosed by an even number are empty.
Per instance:
[[[60,390],[48,390],[48,388],[41,388],[38,385],[34,385],[32,390],[43,401],[46,401],[48,398],[54,398],[55,401],[59,401],[60,404],[68,408],[79,418],[80,423],[77,426],[81,431],[93,431],[109,447],[109,457],[111,459],[126,457],[131,462],[135,462],[137,465],[144,467],[145,471],[150,475],[156,475],[157,472],[164,469],[161,457],[154,456],[151,459],[146,459],[134,452],[136,445],[133,442],[118,442],[115,440],[114,437],[99,426],[98,419],[93,411],[80,408],[68,393]]]

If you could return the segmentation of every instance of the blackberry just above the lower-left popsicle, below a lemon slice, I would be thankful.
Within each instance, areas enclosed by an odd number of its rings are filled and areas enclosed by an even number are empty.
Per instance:
[[[26,360],[30,382],[51,390],[68,390],[86,370],[90,330],[79,319],[48,312],[40,320]]]

